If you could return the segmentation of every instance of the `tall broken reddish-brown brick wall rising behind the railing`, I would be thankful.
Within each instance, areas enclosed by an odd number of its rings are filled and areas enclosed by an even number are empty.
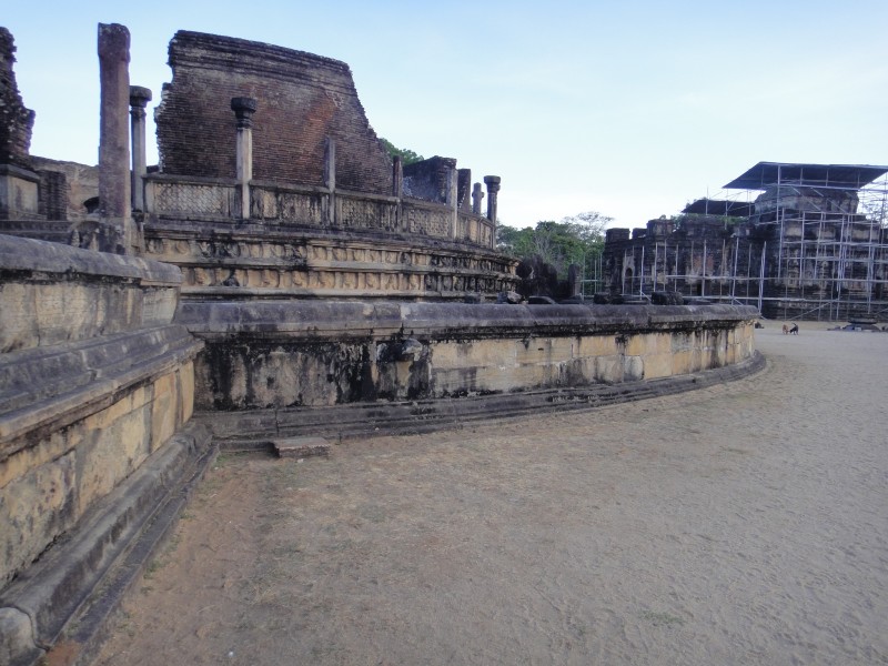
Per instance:
[[[253,178],[323,184],[324,138],[336,141],[336,186],[391,194],[392,165],[343,62],[229,37],[180,31],[171,83],[155,111],[164,173],[233,178],[231,98],[258,101]]]

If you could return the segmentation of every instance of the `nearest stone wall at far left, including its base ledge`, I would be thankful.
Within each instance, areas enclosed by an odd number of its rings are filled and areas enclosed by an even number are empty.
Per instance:
[[[174,266],[0,235],[2,663],[56,639],[182,468],[163,461],[201,343],[171,323],[180,284]]]

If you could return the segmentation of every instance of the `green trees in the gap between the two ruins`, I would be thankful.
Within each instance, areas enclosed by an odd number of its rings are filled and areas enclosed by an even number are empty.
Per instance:
[[[589,211],[524,229],[501,224],[496,228],[496,246],[518,259],[538,255],[563,279],[572,263],[583,266],[584,275],[591,278],[604,249],[604,230],[612,220]]]

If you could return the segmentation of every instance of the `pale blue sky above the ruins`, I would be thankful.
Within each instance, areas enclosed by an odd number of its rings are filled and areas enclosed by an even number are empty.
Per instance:
[[[149,163],[169,41],[195,30],[346,62],[377,135],[500,175],[512,226],[746,201],[720,188],[759,161],[888,164],[884,0],[10,1],[32,154],[98,161],[100,22],[153,92]]]

